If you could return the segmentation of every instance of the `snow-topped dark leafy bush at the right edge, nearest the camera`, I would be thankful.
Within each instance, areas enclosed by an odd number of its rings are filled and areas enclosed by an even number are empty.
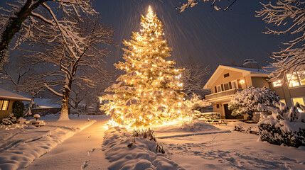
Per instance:
[[[305,106],[299,103],[290,109],[284,103],[275,107],[259,104],[257,110],[272,113],[257,124],[260,139],[274,145],[305,146],[305,113],[299,113],[298,108],[305,111]]]

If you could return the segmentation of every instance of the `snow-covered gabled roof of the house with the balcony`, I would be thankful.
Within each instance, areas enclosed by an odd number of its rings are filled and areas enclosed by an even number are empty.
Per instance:
[[[243,77],[268,77],[268,72],[264,71],[264,69],[252,69],[245,67],[233,67],[233,66],[224,66],[219,65],[215,70],[213,75],[210,77],[208,82],[203,86],[203,89],[211,89],[212,84],[216,81],[216,79],[223,73],[223,70],[228,69],[235,72],[242,73]]]

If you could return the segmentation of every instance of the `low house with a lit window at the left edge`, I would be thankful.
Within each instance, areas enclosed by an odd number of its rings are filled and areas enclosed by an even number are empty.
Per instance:
[[[0,88],[0,120],[13,112],[14,101],[31,101],[31,99]]]

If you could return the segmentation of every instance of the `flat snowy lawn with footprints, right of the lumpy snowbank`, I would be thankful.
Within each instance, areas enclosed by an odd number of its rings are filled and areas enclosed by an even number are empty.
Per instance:
[[[215,125],[233,130],[256,124]],[[305,147],[284,147],[257,141],[258,135],[242,132],[215,133],[159,139],[166,157],[185,169],[305,169]]]

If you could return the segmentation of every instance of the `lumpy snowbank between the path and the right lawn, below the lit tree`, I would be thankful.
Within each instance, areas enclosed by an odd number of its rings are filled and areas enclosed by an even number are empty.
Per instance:
[[[164,154],[156,153],[154,140],[135,137],[136,143],[127,147],[133,138],[125,128],[110,128],[105,132],[102,148],[111,162],[108,169],[183,169]]]

